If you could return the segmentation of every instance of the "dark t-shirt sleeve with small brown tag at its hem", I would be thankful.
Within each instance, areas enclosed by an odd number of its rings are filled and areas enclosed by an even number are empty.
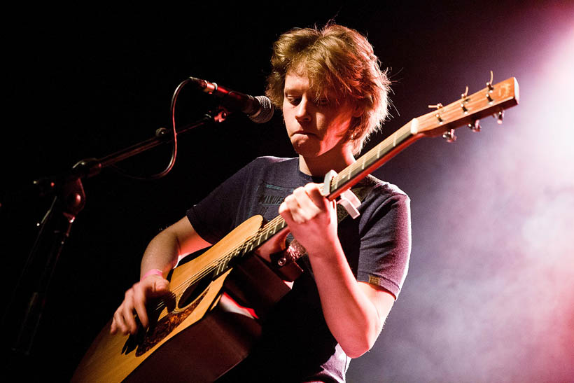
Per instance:
[[[393,193],[372,204],[363,226],[357,280],[380,286],[395,298],[408,272],[411,251],[409,197]]]

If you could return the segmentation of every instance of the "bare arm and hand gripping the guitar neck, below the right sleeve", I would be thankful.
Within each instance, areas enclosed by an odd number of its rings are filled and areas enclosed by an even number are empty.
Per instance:
[[[377,340],[394,296],[356,280],[337,236],[335,203],[321,195],[316,183],[286,197],[279,214],[307,249],[332,335],[351,358],[363,355]]]

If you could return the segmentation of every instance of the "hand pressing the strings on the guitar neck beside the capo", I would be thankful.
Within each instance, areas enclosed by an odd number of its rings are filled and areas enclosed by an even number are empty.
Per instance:
[[[295,189],[279,206],[279,214],[309,256],[328,255],[328,246],[339,241],[336,204],[323,197],[316,183]]]

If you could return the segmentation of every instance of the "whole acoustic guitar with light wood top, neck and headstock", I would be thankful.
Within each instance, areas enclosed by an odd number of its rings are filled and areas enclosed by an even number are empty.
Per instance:
[[[325,197],[337,199],[422,137],[442,135],[454,141],[456,128],[467,125],[477,131],[479,119],[489,115],[501,123],[504,109],[518,102],[519,86],[512,77],[496,85],[490,81],[486,88],[463,94],[447,106],[437,104],[435,110],[413,118],[334,176]],[[212,382],[230,370],[248,355],[260,333],[260,321],[219,308],[224,282],[234,267],[249,259],[253,262],[258,258],[252,256],[255,249],[285,228],[281,216],[265,224],[261,216],[251,217],[201,256],[176,267],[169,278],[171,294],[148,309],[155,318],[150,328],[137,335],[110,335],[108,323],[78,365],[72,382],[141,382],[165,377],[170,381]],[[262,298],[269,304],[288,291],[285,284],[276,283],[280,279],[268,267],[261,267],[256,275],[265,279],[264,284],[275,286]],[[214,344],[218,348],[214,349]]]

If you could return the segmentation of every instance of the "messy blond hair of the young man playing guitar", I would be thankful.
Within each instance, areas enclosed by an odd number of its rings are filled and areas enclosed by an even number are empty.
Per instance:
[[[354,29],[335,24],[291,29],[274,43],[271,64],[265,93],[279,109],[285,77],[292,71],[309,78],[317,100],[325,89],[330,90],[335,102],[343,100],[361,112],[353,117],[344,137],[351,142],[353,154],[360,153],[370,134],[386,119],[391,81],[386,71],[381,71],[369,41]]]

